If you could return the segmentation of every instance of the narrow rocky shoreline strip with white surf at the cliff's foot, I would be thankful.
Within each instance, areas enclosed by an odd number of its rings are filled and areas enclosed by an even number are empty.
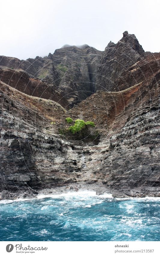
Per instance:
[[[22,188],[23,189],[23,188]],[[30,200],[41,197],[52,197],[54,195],[61,195],[72,192],[81,192],[81,191],[95,191],[96,195],[105,195],[106,198],[152,198],[152,197],[160,197],[160,189],[155,187],[138,187],[138,188],[128,188],[124,189],[114,189],[114,188],[106,188],[106,186],[102,184],[96,185],[86,185],[86,184],[78,184],[72,186],[61,186],[54,188],[46,188],[40,191],[36,191],[33,189],[26,189],[10,192],[10,191],[2,191],[0,192],[0,200]],[[108,196],[107,196],[108,195]]]

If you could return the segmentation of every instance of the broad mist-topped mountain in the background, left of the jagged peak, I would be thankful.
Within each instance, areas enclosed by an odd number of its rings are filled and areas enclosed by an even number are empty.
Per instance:
[[[84,45],[64,46],[53,54],[49,53],[48,57],[37,56],[26,61],[1,56],[0,77],[1,81],[11,86],[15,83],[15,88],[29,95],[45,99],[53,95],[50,99],[56,102],[62,99],[60,103],[69,108],[95,92],[101,54],[101,51]],[[23,77],[26,79],[25,87]]]

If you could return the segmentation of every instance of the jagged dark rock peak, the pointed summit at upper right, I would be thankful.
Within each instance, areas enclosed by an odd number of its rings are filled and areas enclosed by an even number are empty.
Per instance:
[[[110,41],[100,59],[96,90],[122,90],[119,86],[119,78],[123,79],[126,88],[130,87],[130,84],[127,84],[123,78],[124,74],[131,74],[129,68],[133,65],[134,68],[139,68],[138,62],[144,57],[145,52],[142,46],[135,35],[128,34],[128,31],[123,33],[123,37],[118,43],[115,44]]]

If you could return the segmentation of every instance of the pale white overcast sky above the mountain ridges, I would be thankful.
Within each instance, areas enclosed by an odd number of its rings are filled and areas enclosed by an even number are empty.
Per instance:
[[[159,0],[1,1],[0,55],[35,58],[64,44],[104,50],[125,30],[159,52],[159,7]]]

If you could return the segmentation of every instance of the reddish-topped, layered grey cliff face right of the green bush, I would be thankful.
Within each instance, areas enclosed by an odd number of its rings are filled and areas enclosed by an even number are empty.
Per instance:
[[[87,182],[101,181],[131,196],[159,194],[160,73],[153,77],[147,87],[141,82],[120,92],[97,92],[69,112],[85,121],[92,116],[101,134],[98,145],[85,147]]]

